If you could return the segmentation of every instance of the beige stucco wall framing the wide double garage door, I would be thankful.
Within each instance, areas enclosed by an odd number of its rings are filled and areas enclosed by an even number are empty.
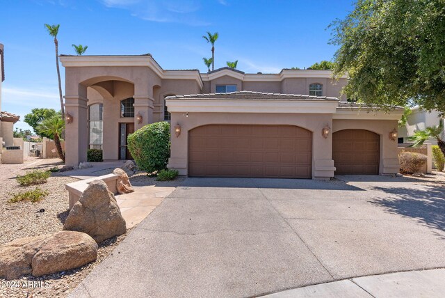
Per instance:
[[[334,176],[332,160],[332,136],[321,135],[325,125],[332,126],[332,114],[291,114],[291,113],[172,113],[172,123],[181,125],[181,135],[175,136],[172,127],[171,157],[168,168],[175,168],[181,175],[187,175],[188,131],[208,124],[244,125],[296,125],[313,132],[312,177]]]

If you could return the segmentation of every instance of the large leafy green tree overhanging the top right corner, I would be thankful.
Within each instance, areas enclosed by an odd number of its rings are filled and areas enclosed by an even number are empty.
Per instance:
[[[348,98],[445,112],[445,1],[357,0],[330,26],[334,76],[348,74]]]

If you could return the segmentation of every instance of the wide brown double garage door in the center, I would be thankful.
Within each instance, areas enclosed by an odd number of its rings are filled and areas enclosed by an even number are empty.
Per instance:
[[[311,178],[312,132],[290,125],[204,125],[188,134],[188,175]]]

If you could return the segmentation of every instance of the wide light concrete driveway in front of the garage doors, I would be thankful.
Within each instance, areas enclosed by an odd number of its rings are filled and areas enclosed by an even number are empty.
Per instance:
[[[445,191],[406,178],[188,178],[72,297],[252,297],[445,267]]]

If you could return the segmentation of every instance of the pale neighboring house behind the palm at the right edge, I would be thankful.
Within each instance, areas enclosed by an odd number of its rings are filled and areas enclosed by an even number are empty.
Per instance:
[[[425,130],[426,127],[437,126],[439,125],[440,119],[439,111],[433,110],[428,112],[419,107],[411,109],[405,126],[398,128],[398,143],[412,143],[410,136],[414,136],[414,132],[417,130]],[[444,120],[442,119],[442,121]],[[445,132],[442,132],[442,136],[444,135]],[[428,140],[428,143],[437,145],[437,141],[433,139]]]

